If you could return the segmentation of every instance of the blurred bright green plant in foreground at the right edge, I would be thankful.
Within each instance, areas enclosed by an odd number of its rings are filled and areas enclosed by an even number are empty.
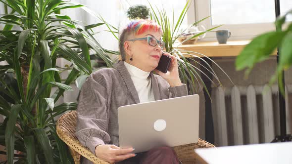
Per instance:
[[[292,9],[276,19],[275,26],[277,30],[255,37],[243,48],[236,59],[236,69],[238,71],[246,69],[245,77],[247,77],[255,64],[268,59],[272,52],[277,47],[280,47],[280,60],[269,83],[271,85],[279,79],[281,93],[284,93],[283,71],[289,69],[292,65],[292,22],[288,24],[286,29],[281,30],[282,25],[287,22],[288,15],[292,15]]]

